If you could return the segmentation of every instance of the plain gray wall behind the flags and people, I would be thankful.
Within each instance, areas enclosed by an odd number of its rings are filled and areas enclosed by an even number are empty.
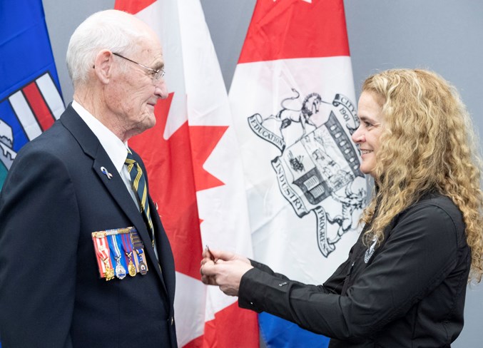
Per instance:
[[[86,16],[113,4],[114,0],[44,0],[66,103],[73,93],[65,63],[68,39]],[[201,4],[229,88],[255,0],[201,0]],[[357,96],[362,81],[375,71],[430,68],[457,86],[483,133],[483,1],[345,0],[344,4]],[[463,332],[453,347],[482,347],[483,285],[469,287],[464,316]]]

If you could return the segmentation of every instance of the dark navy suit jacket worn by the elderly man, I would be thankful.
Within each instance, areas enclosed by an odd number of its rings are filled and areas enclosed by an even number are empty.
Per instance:
[[[0,195],[2,348],[176,347],[173,253],[149,204],[161,267],[121,176],[71,106],[26,144]],[[91,232],[129,226],[149,271],[106,282]]]

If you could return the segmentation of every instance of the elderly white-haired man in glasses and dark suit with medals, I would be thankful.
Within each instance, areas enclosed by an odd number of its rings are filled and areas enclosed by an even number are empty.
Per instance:
[[[74,96],[0,195],[2,347],[176,347],[173,253],[127,140],[168,96],[156,34],[101,11],[71,37]]]

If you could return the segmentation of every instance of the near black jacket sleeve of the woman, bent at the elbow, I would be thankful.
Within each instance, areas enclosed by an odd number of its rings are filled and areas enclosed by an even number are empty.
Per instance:
[[[281,282],[253,268],[240,282],[239,305],[329,337],[367,337],[402,317],[449,274],[457,262],[456,230],[441,208],[412,209],[400,218],[347,296],[327,293],[320,286]]]

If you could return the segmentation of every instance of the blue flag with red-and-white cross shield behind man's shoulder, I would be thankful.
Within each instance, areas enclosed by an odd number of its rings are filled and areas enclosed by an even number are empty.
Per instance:
[[[41,0],[0,2],[0,57],[1,188],[19,149],[64,109]]]

